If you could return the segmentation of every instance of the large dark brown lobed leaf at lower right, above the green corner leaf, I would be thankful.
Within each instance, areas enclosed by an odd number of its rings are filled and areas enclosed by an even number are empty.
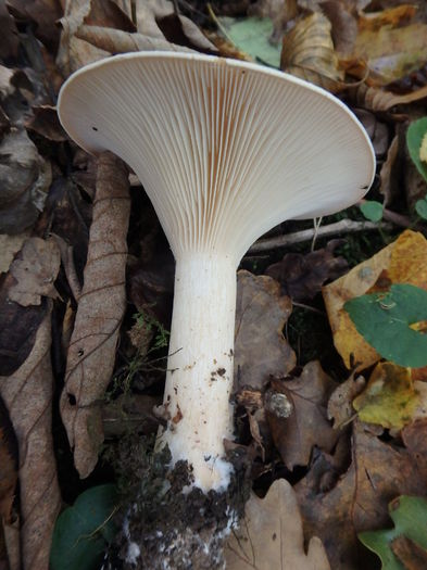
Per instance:
[[[325,493],[325,471],[315,463],[294,487],[304,529],[321,537],[331,567],[346,570],[372,568],[371,554],[356,533],[387,527],[391,499],[427,493],[427,455],[414,457],[364,431],[362,423],[353,426],[352,464],[338,483]]]

